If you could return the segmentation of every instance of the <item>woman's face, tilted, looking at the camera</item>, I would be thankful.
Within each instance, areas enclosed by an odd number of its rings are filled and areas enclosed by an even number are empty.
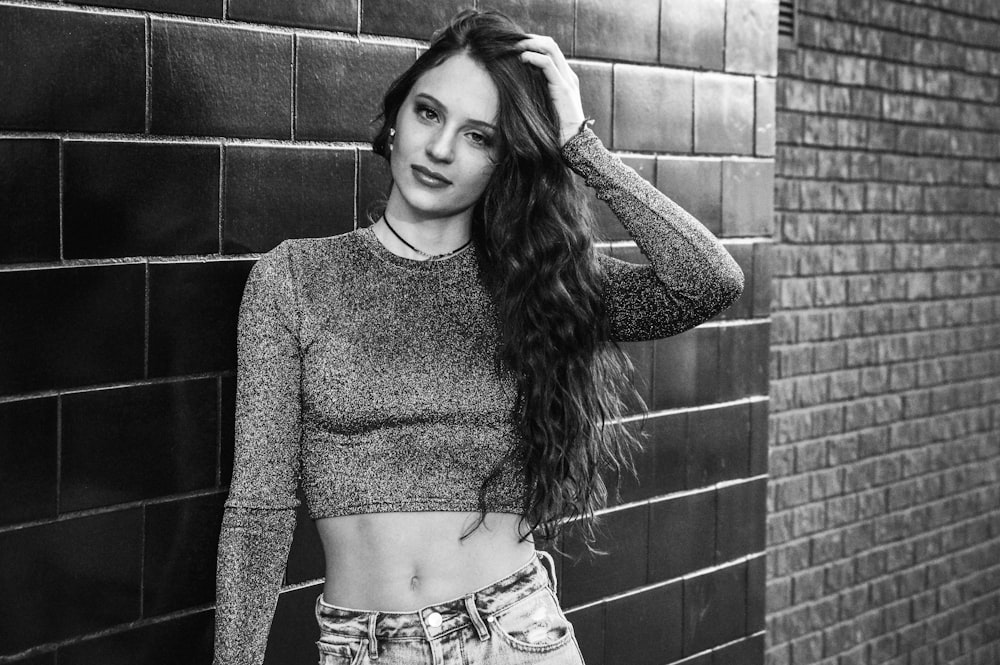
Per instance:
[[[493,173],[498,108],[489,74],[465,54],[417,79],[396,115],[387,212],[468,218]]]

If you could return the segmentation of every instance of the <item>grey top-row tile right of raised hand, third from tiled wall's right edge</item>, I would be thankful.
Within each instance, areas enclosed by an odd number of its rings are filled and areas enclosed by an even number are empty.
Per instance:
[[[612,60],[656,62],[660,0],[578,0],[576,55]]]

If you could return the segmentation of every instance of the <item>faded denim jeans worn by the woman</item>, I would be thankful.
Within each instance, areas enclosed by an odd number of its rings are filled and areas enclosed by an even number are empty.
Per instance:
[[[414,612],[352,610],[320,595],[316,620],[320,665],[583,665],[546,552],[477,591]]]

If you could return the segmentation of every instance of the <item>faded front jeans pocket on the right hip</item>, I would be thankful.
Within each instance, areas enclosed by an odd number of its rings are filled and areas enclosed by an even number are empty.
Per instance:
[[[528,653],[554,651],[573,639],[573,626],[549,589],[539,589],[486,620],[511,647]]]

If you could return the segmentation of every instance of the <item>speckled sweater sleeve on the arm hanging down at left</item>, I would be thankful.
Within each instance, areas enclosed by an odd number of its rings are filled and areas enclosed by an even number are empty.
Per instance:
[[[240,304],[236,451],[216,572],[216,665],[264,660],[295,527],[301,365],[287,245],[254,265]]]

